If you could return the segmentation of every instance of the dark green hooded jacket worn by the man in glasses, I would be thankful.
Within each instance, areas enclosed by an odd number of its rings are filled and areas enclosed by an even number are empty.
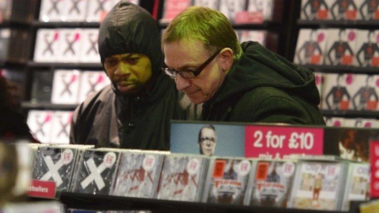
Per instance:
[[[203,104],[202,120],[325,125],[314,74],[268,51],[241,44],[243,55]]]

